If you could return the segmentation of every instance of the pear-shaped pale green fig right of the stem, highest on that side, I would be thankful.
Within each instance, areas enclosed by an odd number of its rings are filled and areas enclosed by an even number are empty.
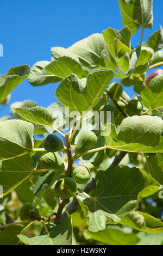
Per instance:
[[[94,132],[87,130],[83,131],[79,138],[75,149],[75,154],[78,155],[84,151],[90,150],[95,147],[97,143],[97,136]]]

